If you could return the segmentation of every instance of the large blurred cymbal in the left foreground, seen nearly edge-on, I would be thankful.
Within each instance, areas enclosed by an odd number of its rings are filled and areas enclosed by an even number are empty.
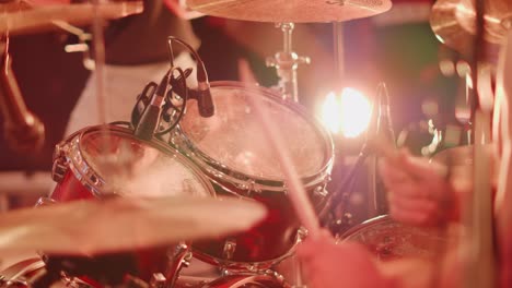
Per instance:
[[[255,202],[213,197],[115,197],[24,208],[0,216],[0,253],[95,255],[208,239],[248,229]]]

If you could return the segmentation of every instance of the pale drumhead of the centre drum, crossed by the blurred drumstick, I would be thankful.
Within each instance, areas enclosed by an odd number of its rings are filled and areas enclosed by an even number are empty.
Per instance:
[[[191,146],[213,161],[256,179],[284,178],[278,155],[247,99],[260,97],[301,177],[314,176],[329,163],[330,139],[293,104],[283,103],[268,89],[235,82],[213,83],[211,94],[214,116],[202,118],[197,106],[190,105],[181,129]]]

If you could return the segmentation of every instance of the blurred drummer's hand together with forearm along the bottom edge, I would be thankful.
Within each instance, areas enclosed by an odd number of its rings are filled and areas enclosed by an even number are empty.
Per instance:
[[[380,262],[360,243],[336,244],[331,237],[324,235],[306,239],[299,247],[298,255],[312,288],[458,287],[463,253],[452,247],[445,251],[450,252],[435,259]]]

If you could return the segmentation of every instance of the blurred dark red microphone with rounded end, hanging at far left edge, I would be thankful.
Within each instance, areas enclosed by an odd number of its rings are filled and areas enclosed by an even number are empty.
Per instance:
[[[35,152],[45,142],[45,125],[26,108],[25,101],[12,71],[11,58],[4,48],[0,73],[0,110],[9,146],[19,152]]]

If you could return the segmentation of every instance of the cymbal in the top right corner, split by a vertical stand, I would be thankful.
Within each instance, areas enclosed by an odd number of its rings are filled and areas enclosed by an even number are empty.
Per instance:
[[[511,26],[512,1],[485,0],[484,39],[489,55],[496,57],[498,46]],[[432,7],[430,25],[438,38],[449,47],[469,55],[476,34],[475,5],[472,0],[438,0]]]

